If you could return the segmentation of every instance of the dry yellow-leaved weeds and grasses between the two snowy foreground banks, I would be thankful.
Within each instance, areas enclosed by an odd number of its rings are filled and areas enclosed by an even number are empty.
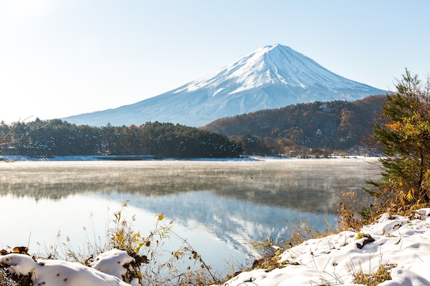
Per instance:
[[[165,222],[164,215],[155,217],[155,227],[147,236],[133,230],[135,217],[127,220],[123,210],[128,202],[122,204],[122,209],[114,213],[106,231],[107,243],[100,246],[93,244],[89,253],[82,254],[71,249],[63,250],[63,246],[49,249],[47,254],[36,258],[65,259],[89,265],[93,257],[101,252],[117,248],[126,250],[135,258],[135,262],[127,267],[127,274],[123,276],[126,283],[133,278],[139,278],[142,286],[162,285],[210,285],[219,284],[220,279],[212,274],[212,270],[205,264],[201,255],[197,253],[190,243],[179,237],[172,230],[172,222]],[[179,241],[179,248],[171,250],[169,244],[172,240]],[[89,243],[91,244],[91,243]],[[61,256],[65,254],[65,257]],[[11,276],[7,270],[0,267],[0,286],[21,285],[19,278]]]

